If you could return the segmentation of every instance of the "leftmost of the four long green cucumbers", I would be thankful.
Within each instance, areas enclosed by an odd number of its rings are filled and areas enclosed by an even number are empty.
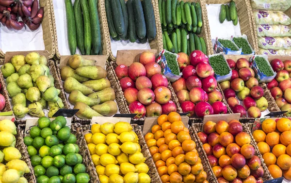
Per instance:
[[[71,0],[65,0],[65,12],[67,17],[69,49],[71,55],[74,55],[77,49],[77,37],[76,37],[75,15]]]

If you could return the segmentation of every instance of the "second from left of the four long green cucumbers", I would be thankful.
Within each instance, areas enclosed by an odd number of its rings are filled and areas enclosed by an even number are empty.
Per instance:
[[[74,3],[74,14],[76,21],[76,34],[77,34],[77,47],[82,55],[85,55],[84,48],[84,28],[83,28],[83,18],[80,0],[76,0]]]

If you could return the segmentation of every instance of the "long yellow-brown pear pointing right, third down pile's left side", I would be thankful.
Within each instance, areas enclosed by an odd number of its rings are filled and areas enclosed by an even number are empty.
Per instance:
[[[78,90],[82,92],[84,95],[88,95],[93,93],[94,90],[92,88],[86,87],[79,83],[74,77],[67,77],[64,82],[64,89],[66,92],[71,93],[74,90]]]

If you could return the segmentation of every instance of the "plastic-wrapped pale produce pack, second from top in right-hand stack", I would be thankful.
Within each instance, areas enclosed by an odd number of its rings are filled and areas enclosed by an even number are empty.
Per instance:
[[[290,25],[291,19],[283,12],[254,11],[256,24]]]

